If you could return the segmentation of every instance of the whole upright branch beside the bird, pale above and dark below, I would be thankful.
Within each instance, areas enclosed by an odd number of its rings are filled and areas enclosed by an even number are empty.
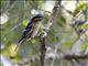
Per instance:
[[[40,56],[40,61],[41,61],[41,66],[44,66],[44,61],[45,61],[45,38],[47,36],[47,33],[50,32],[50,28],[52,26],[52,24],[56,21],[57,14],[59,12],[61,9],[58,9],[61,6],[61,0],[56,0],[55,1],[55,6],[53,9],[53,13],[51,14],[51,18],[47,22],[47,25],[45,26],[46,29],[44,29],[44,34],[41,35],[41,56]]]

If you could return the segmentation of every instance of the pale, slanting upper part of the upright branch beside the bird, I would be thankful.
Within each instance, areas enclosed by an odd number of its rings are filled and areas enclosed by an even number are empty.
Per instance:
[[[56,22],[57,15],[58,15],[58,13],[61,11],[61,8],[62,8],[61,2],[62,2],[62,0],[56,0],[55,1],[55,6],[53,8],[53,13],[51,14],[51,18],[48,19],[47,24],[44,29],[46,34],[43,34],[43,37],[47,36],[47,33],[50,32],[51,26],[53,25],[54,22]]]

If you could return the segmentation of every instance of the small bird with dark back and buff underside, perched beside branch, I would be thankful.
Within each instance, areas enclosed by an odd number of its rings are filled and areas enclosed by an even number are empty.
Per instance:
[[[28,25],[25,26],[25,29],[23,30],[22,36],[19,40],[19,44],[15,47],[14,51],[16,51],[16,48],[26,40],[31,38],[33,36],[33,33],[35,31],[35,29],[38,26],[38,23],[42,21],[43,15],[42,14],[36,14],[35,16],[33,16],[30,22],[28,23]],[[33,36],[34,37],[34,36]]]

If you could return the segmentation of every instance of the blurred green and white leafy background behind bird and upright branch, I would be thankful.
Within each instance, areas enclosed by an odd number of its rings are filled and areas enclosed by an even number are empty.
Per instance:
[[[0,65],[40,66],[40,41],[32,38],[14,48],[23,29],[35,14],[45,28],[53,13],[51,0],[0,0]],[[46,37],[45,66],[88,66],[88,58],[65,59],[65,54],[88,55],[88,1],[63,1],[56,22]],[[41,32],[41,31],[40,31]]]

